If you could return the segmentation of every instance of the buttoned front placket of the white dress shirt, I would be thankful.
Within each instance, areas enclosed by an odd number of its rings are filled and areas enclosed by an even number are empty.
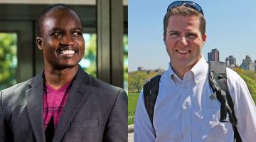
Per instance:
[[[181,89],[182,141],[191,141],[191,75],[184,76]]]

